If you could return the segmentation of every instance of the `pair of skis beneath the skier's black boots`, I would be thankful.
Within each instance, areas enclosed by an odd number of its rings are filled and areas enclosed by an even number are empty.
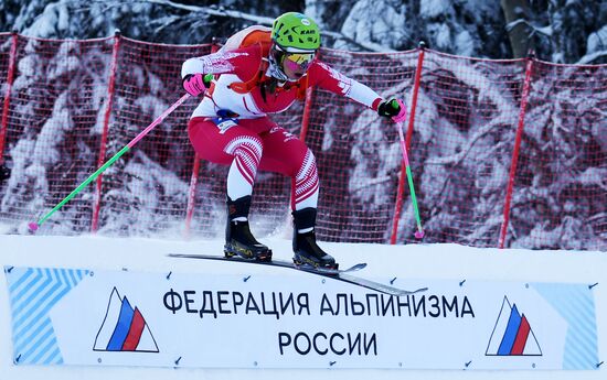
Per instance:
[[[355,275],[352,275],[350,273],[360,271],[361,269],[364,269],[366,267],[366,263],[359,263],[355,265],[352,265],[347,269],[342,270],[333,270],[333,269],[323,269],[323,268],[308,268],[308,267],[298,267],[292,261],[286,261],[286,260],[277,260],[273,259],[271,261],[257,261],[257,260],[247,260],[239,257],[232,257],[232,258],[225,258],[222,256],[214,256],[214,254],[196,254],[196,253],[169,253],[168,254],[171,258],[181,258],[181,259],[201,259],[201,260],[217,260],[217,261],[231,261],[231,262],[243,262],[243,263],[251,263],[251,264],[260,264],[260,265],[271,265],[271,267],[279,267],[279,268],[288,268],[288,269],[295,269],[298,271],[303,271],[307,273],[333,279],[337,281],[347,282],[356,286],[370,289],[372,291],[376,291],[380,293],[388,294],[388,295],[395,295],[395,296],[404,296],[408,294],[415,294],[425,292],[428,289],[427,287],[420,287],[414,291],[407,291],[403,289],[398,289],[395,286],[382,284],[380,282],[362,279]]]

